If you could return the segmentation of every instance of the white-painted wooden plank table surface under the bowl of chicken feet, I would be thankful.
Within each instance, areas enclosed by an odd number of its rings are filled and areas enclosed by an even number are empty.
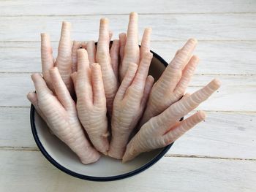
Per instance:
[[[256,191],[256,1],[0,0],[0,191]],[[56,53],[62,20],[72,37],[97,39],[99,18],[114,37],[140,13],[140,37],[153,28],[152,50],[170,61],[196,37],[201,61],[189,91],[214,77],[222,88],[200,110],[205,122],[179,139],[157,164],[125,180],[94,183],[51,165],[31,135],[32,72],[40,72],[39,34]]]

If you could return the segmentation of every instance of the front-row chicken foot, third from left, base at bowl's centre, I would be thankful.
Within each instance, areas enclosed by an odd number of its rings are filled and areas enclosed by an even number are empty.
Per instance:
[[[116,93],[111,120],[112,139],[108,155],[121,159],[128,139],[138,123],[154,78],[148,76],[152,53],[145,53],[140,65],[131,63]],[[138,69],[138,70],[137,70]]]

